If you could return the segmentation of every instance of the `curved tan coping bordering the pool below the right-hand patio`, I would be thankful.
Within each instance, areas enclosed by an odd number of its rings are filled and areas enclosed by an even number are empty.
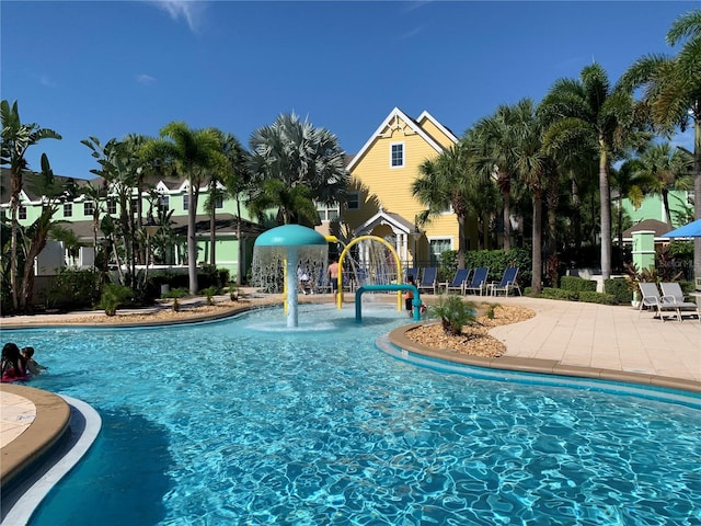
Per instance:
[[[605,369],[598,367],[565,365],[555,359],[520,358],[508,355],[499,356],[497,358],[486,358],[481,356],[458,354],[453,351],[448,350],[429,348],[406,338],[407,331],[411,331],[412,329],[420,325],[422,325],[422,323],[412,323],[394,329],[388,335],[390,343],[399,348],[409,351],[411,353],[430,358],[443,359],[446,362],[471,365],[474,367],[505,369],[520,373],[539,373],[543,375],[558,375],[576,378],[590,378],[597,380],[621,381],[701,393],[701,382],[682,378],[646,375],[643,373]]]

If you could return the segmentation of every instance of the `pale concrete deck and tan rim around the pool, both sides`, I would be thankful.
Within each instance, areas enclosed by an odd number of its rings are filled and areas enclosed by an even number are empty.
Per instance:
[[[254,298],[248,307],[279,304],[279,295]],[[701,393],[701,323],[696,319],[653,319],[651,311],[639,315],[625,306],[605,306],[526,297],[470,297],[473,300],[519,305],[536,317],[490,331],[506,345],[499,358],[470,358],[455,353],[430,352],[401,341],[400,346],[422,354],[451,358],[485,367],[530,373],[582,376],[682,389]],[[199,299],[202,300],[202,298]],[[330,295],[306,296],[300,301],[333,300]],[[346,304],[353,300],[346,294]],[[1,320],[2,328],[67,324],[87,316],[96,322],[103,312],[46,315]],[[398,329],[393,334],[402,339]],[[399,331],[399,332],[398,332]],[[4,341],[12,340],[5,334]],[[394,341],[394,343],[398,343]],[[458,359],[456,359],[458,356]],[[41,359],[39,359],[41,361]],[[12,476],[16,465],[28,465],[37,448],[49,448],[67,426],[69,408],[59,397],[25,386],[0,387],[0,480]],[[37,437],[44,437],[37,443]]]

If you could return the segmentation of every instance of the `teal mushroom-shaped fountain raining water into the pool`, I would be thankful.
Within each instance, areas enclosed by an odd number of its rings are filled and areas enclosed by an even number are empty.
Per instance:
[[[297,328],[299,324],[297,316],[299,276],[307,274],[311,282],[321,278],[326,268],[327,254],[326,238],[301,225],[273,228],[255,240],[253,281],[258,287],[275,290],[279,289],[284,274],[288,328]]]

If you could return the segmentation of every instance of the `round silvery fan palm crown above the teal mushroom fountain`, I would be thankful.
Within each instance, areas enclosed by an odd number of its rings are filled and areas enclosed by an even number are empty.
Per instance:
[[[252,193],[250,203],[257,210],[264,203],[278,207],[278,222],[299,222],[303,217],[310,221],[314,201],[332,205],[345,198],[348,174],[344,151],[331,132],[314,128],[294,113],[279,115],[273,125],[253,133],[250,147],[249,169],[260,188]],[[265,185],[271,180],[280,182],[287,191],[280,185]],[[294,192],[296,186],[306,186],[307,191]],[[314,211],[310,222],[318,221]]]

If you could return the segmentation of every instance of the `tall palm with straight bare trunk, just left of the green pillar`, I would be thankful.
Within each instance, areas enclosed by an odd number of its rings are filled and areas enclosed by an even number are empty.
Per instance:
[[[544,144],[578,139],[591,145],[599,161],[601,274],[611,275],[611,187],[610,168],[627,146],[635,124],[633,99],[620,85],[611,88],[604,68],[585,67],[579,80],[555,81],[541,103],[541,115],[549,125]],[[561,137],[559,137],[561,136]]]

